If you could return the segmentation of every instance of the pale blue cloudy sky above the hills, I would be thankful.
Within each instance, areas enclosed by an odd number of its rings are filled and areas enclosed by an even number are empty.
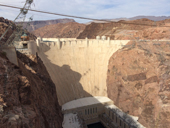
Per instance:
[[[22,7],[24,2],[25,0],[0,0],[1,4],[19,7]],[[34,0],[34,5],[32,9],[96,19],[129,18],[138,15],[170,16],[170,0]],[[4,18],[13,20],[18,13],[16,9],[0,6],[0,16]],[[28,18],[32,15],[34,20],[66,18],[34,12],[29,12]]]

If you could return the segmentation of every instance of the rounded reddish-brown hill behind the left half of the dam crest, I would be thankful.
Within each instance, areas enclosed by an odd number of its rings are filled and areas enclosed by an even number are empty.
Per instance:
[[[43,38],[76,38],[84,28],[84,24],[76,22],[58,23],[39,28],[33,34]]]

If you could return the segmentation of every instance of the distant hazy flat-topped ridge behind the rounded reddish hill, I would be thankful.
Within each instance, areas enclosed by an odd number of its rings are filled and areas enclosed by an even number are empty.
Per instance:
[[[30,21],[24,22],[23,28],[27,28],[29,32],[35,31],[38,28],[44,27],[46,25],[52,25],[57,23],[69,23],[75,22],[73,19],[56,19],[56,20],[44,20],[44,21]],[[21,22],[17,22],[16,24],[20,24]]]

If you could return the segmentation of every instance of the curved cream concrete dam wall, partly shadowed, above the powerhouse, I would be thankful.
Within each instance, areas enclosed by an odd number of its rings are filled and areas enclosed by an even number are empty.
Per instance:
[[[50,40],[51,41],[51,40]],[[129,40],[37,40],[38,55],[56,85],[60,105],[89,96],[107,96],[111,55]]]

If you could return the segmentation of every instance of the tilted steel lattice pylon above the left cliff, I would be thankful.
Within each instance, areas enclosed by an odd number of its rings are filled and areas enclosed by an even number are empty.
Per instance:
[[[23,34],[24,30],[22,29],[23,23],[25,21],[26,15],[28,13],[28,10],[31,7],[31,4],[33,3],[33,0],[26,0],[24,7],[20,10],[20,13],[17,15],[17,17],[14,19],[13,22],[16,22],[16,20],[22,21],[20,24],[16,25],[16,29],[13,31],[11,36],[8,38],[8,40],[5,42],[5,45],[11,46],[13,45],[14,41],[17,41],[20,39],[21,35]],[[32,18],[30,18],[32,20]],[[28,24],[27,24],[28,25]],[[5,34],[9,31],[10,28],[14,28],[14,24],[10,24],[8,28],[5,30],[5,32],[1,35],[0,41],[5,36]]]

